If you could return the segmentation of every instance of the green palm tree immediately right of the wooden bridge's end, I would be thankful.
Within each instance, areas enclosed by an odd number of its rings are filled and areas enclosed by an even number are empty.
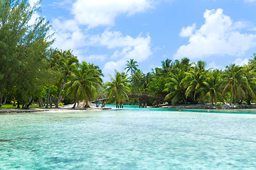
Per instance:
[[[179,101],[186,103],[186,89],[183,84],[185,75],[185,72],[179,72],[179,74],[170,73],[170,77],[168,78],[169,83],[165,84],[166,89],[164,89],[164,91],[169,92],[169,94],[166,95],[165,100],[167,101],[171,99],[172,105]]]

